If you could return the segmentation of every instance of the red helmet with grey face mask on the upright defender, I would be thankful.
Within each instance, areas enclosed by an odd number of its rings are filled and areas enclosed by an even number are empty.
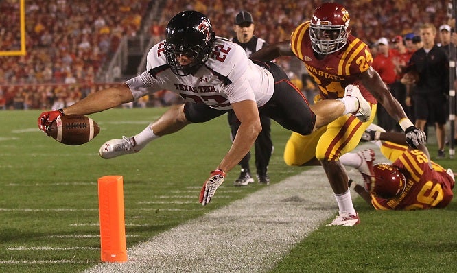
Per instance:
[[[318,54],[331,54],[347,44],[349,12],[340,4],[323,3],[314,10],[309,36]]]

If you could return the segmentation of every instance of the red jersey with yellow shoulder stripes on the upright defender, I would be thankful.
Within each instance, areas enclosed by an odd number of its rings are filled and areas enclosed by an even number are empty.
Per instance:
[[[309,38],[309,21],[298,25],[290,38],[292,51],[305,63],[305,67],[319,87],[323,99],[344,97],[344,87],[358,85],[362,95],[372,104],[377,101],[360,82],[360,74],[371,67],[373,57],[368,45],[351,34],[347,45],[327,56],[318,56]]]

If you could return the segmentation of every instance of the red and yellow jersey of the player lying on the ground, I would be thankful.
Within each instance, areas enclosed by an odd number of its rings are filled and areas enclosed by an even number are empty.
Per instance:
[[[392,163],[399,167],[406,178],[406,189],[397,198],[371,198],[371,204],[379,210],[413,210],[443,208],[451,202],[454,194],[454,178],[446,170],[419,150],[407,150]]]

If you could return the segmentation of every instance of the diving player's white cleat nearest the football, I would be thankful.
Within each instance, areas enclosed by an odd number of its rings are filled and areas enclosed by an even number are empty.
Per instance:
[[[139,150],[134,149],[136,145],[134,137],[123,136],[122,139],[111,139],[103,143],[98,154],[105,159],[123,156],[124,154],[134,154],[139,152]]]

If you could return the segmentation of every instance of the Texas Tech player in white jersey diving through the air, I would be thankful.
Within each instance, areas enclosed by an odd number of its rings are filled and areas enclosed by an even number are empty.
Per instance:
[[[134,137],[107,141],[99,154],[113,158],[138,152],[150,141],[177,132],[187,124],[206,122],[233,110],[241,125],[229,152],[202,187],[200,202],[206,205],[226,172],[246,155],[261,131],[259,112],[299,134],[310,134],[349,113],[360,119],[371,115],[370,105],[352,85],[347,86],[345,96],[339,100],[309,106],[276,64],[249,60],[242,47],[216,37],[209,19],[200,12],[176,14],[165,32],[166,39],[148,52],[146,71],[141,75],[119,88],[93,93],[67,108],[41,113],[38,127],[47,132],[60,115],[101,112],[163,89],[185,99],[185,104],[172,106]]]

